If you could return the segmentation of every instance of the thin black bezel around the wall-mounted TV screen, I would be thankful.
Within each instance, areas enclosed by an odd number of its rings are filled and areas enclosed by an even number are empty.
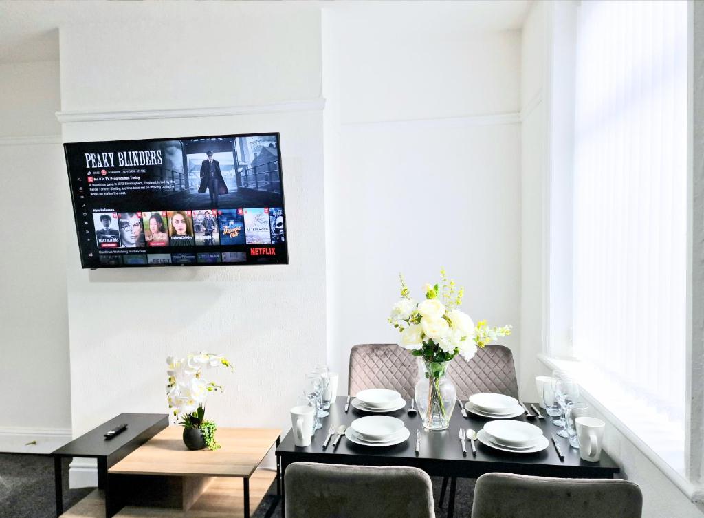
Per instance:
[[[101,265],[101,266],[87,266],[86,261],[83,257],[83,248],[81,246],[81,234],[80,234],[80,226],[78,225],[78,211],[77,211],[77,202],[75,199],[75,192],[73,189],[73,181],[71,180],[71,171],[70,171],[70,163],[68,160],[68,146],[73,145],[73,144],[106,144],[106,143],[127,143],[127,142],[158,142],[161,140],[189,140],[189,139],[208,139],[208,138],[226,138],[226,137],[263,137],[265,135],[276,135],[277,138],[277,157],[279,160],[279,180],[281,182],[281,208],[284,211],[284,217],[286,218],[284,221],[286,221],[286,225],[284,225],[284,247],[286,249],[286,257],[283,261],[277,261],[275,263],[250,263],[250,262],[244,262],[244,263],[225,263],[225,262],[219,262],[219,263],[182,263],[182,264],[106,264],[106,265]],[[185,266],[187,268],[192,268],[194,266],[204,266],[207,268],[210,268],[212,266],[282,266],[282,265],[287,265],[290,264],[290,257],[289,257],[289,233],[288,233],[288,215],[286,211],[286,195],[285,195],[285,188],[284,188],[284,166],[283,166],[283,161],[282,161],[282,151],[281,151],[281,133],[278,131],[267,131],[267,132],[256,132],[256,133],[226,133],[226,134],[219,134],[219,135],[194,135],[191,137],[153,137],[153,138],[146,138],[146,139],[123,139],[123,140],[87,140],[87,141],[80,141],[80,142],[63,142],[63,157],[65,160],[66,164],[66,174],[68,175],[68,187],[71,192],[71,205],[73,208],[73,222],[76,227],[76,240],[78,242],[78,254],[81,259],[81,269],[83,270],[102,270],[102,269],[137,269],[137,268],[169,268],[172,266],[175,267],[182,267]],[[145,252],[147,253],[147,252]],[[220,252],[222,253],[222,252]]]

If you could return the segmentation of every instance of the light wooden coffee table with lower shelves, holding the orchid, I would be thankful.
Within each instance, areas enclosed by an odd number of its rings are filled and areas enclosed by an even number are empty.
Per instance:
[[[218,428],[222,448],[215,451],[188,450],[182,433],[169,426],[134,450],[108,469],[103,494],[92,493],[63,518],[94,516],[101,498],[107,518],[249,518],[275,480],[279,493],[278,463],[277,471],[258,467],[281,430]]]

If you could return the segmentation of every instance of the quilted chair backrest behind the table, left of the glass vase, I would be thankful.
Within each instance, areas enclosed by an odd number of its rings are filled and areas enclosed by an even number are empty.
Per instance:
[[[347,393],[365,388],[392,388],[405,400],[415,393],[418,364],[410,351],[395,343],[355,345],[350,351]]]

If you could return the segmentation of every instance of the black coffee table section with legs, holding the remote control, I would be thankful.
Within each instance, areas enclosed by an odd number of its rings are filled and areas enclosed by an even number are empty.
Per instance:
[[[106,440],[106,431],[122,423],[127,429],[115,438]],[[63,514],[63,486],[61,460],[64,457],[87,457],[98,460],[98,487],[108,491],[108,468],[130,455],[169,426],[168,414],[120,414],[93,428],[79,438],[54,450],[54,485],[56,487],[56,516]],[[107,495],[106,495],[107,500]]]

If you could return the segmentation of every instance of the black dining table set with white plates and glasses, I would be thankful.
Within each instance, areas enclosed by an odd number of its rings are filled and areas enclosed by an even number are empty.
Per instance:
[[[558,444],[565,456],[560,460],[552,442],[553,433],[559,431],[558,426],[553,425],[554,417],[550,417],[541,409],[544,419],[527,417],[523,414],[515,417],[516,421],[527,421],[539,426],[543,430],[543,435],[548,438],[550,444],[548,448],[536,453],[513,453],[503,452],[490,448],[478,440],[474,441],[477,446],[477,455],[472,455],[470,441],[467,440],[467,455],[462,454],[460,443],[460,428],[472,428],[479,431],[484,424],[491,419],[479,417],[467,412],[468,417],[463,417],[458,405],[450,419],[450,426],[443,431],[428,431],[423,428],[420,414],[408,414],[410,402],[406,408],[396,410],[396,412],[386,412],[383,415],[398,417],[410,430],[410,437],[403,443],[394,446],[375,447],[353,443],[342,437],[337,448],[333,448],[330,440],[327,449],[322,448],[322,443],[327,437],[327,432],[332,426],[344,424],[349,426],[352,421],[359,417],[372,414],[363,412],[349,405],[348,412],[344,411],[346,396],[337,397],[334,404],[330,405],[329,416],[320,419],[322,428],[318,429],[313,436],[310,446],[300,448],[294,444],[294,436],[291,430],[283,438],[276,449],[277,471],[281,476],[282,489],[282,518],[285,517],[285,491],[284,474],[286,467],[292,462],[325,462],[328,464],[356,464],[362,466],[413,466],[422,469],[430,476],[450,476],[458,478],[476,479],[482,474],[492,472],[515,473],[537,476],[554,476],[572,479],[611,479],[620,471],[614,460],[605,452],[601,453],[601,460],[598,462],[587,462],[579,457],[579,450],[570,447],[567,439],[558,437]],[[526,403],[529,407],[529,403]],[[537,407],[537,405],[536,405]],[[530,408],[530,407],[529,407]],[[415,452],[415,431],[420,430],[420,454]],[[453,501],[455,493],[455,480],[450,486],[450,506],[448,507],[448,517],[453,516]]]

